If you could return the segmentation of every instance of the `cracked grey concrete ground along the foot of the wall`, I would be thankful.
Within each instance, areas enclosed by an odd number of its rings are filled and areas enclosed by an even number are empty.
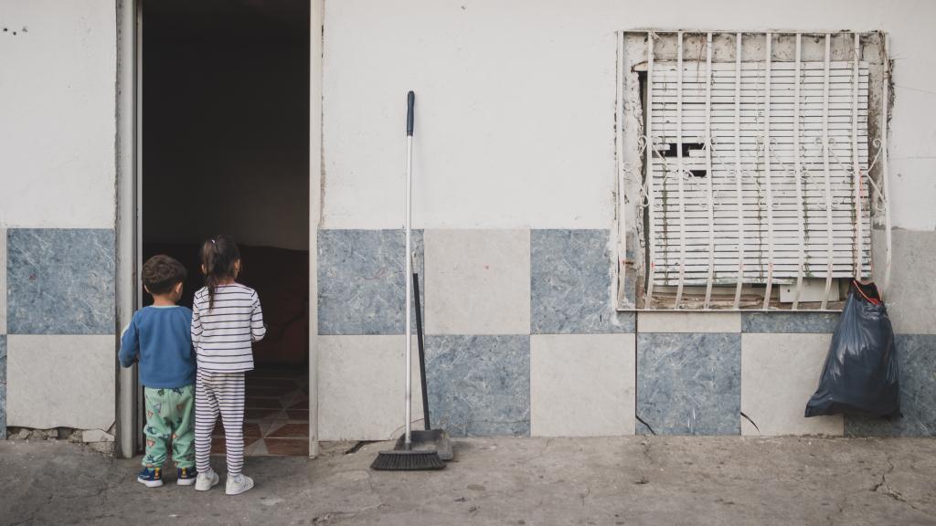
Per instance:
[[[146,489],[138,460],[80,445],[0,442],[0,523],[936,524],[932,439],[471,439],[428,473],[373,472],[389,443],[350,446],[248,459],[256,488],[228,497]]]

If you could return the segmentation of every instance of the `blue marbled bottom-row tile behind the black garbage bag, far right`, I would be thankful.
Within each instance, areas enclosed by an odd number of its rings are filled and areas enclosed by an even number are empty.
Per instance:
[[[902,417],[845,417],[851,436],[936,436],[936,335],[898,334],[894,337],[900,370]]]

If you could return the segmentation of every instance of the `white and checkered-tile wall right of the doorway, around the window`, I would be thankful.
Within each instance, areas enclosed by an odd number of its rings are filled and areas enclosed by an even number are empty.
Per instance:
[[[936,412],[920,401],[936,387],[925,315],[936,276],[923,262],[936,250],[934,16],[931,3],[873,0],[327,4],[320,333],[349,347],[402,333],[404,95],[414,90],[433,425],[467,435],[931,433]],[[897,230],[887,300],[908,364],[902,424],[802,416],[836,314],[615,312],[615,32],[645,28],[889,34]],[[880,232],[874,240],[883,261]],[[363,425],[323,429],[326,439],[388,438]]]

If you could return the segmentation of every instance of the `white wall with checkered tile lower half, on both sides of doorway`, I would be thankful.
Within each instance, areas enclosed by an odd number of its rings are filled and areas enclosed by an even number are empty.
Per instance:
[[[362,399],[402,401],[387,375],[401,354],[391,337],[404,329],[403,100],[413,89],[433,424],[464,435],[931,433],[934,15],[924,1],[328,3],[313,247],[320,385],[353,376]],[[109,429],[115,5],[6,0],[3,17],[0,422]],[[800,416],[835,315],[614,310],[615,32],[647,27],[890,35],[897,229],[887,301],[901,421]],[[319,394],[322,439],[388,438],[402,424],[402,403]],[[72,410],[66,399],[93,402]]]

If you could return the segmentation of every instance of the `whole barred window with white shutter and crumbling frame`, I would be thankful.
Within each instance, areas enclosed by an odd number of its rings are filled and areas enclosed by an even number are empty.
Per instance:
[[[623,306],[829,310],[870,278],[883,40],[622,34]]]

